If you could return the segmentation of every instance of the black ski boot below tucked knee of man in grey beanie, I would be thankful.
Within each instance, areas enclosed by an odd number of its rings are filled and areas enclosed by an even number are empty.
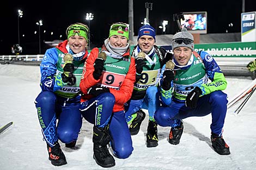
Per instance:
[[[184,127],[183,127],[182,122],[178,127],[171,128],[168,142],[170,144],[175,144],[175,145],[179,144],[180,143],[180,137],[183,133],[183,129],[184,129]]]

